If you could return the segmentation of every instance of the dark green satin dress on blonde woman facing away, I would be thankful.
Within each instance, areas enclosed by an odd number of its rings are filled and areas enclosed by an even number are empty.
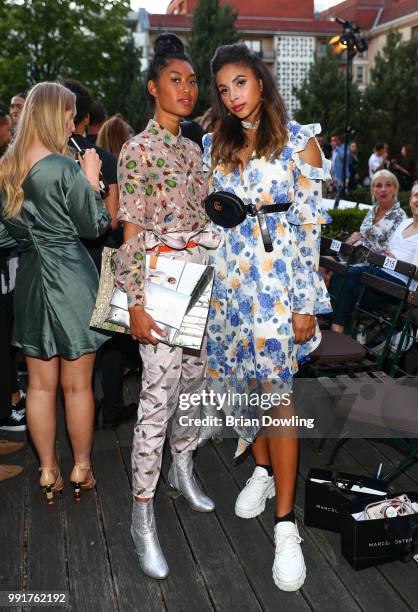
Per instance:
[[[0,248],[20,250],[12,343],[25,355],[77,359],[95,352],[108,337],[90,329],[99,284],[82,238],[97,238],[110,215],[78,164],[51,154],[23,182],[17,217],[5,219],[0,193]]]

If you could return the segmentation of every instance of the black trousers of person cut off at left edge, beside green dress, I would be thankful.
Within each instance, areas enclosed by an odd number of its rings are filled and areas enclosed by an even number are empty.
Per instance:
[[[12,393],[17,391],[16,366],[12,355],[13,294],[0,292],[0,419],[11,414]]]

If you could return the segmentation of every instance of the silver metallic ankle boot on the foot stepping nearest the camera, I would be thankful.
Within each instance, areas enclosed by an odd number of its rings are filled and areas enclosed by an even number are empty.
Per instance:
[[[158,541],[152,499],[147,504],[134,500],[131,535],[142,571],[151,578],[167,578],[168,565]]]

